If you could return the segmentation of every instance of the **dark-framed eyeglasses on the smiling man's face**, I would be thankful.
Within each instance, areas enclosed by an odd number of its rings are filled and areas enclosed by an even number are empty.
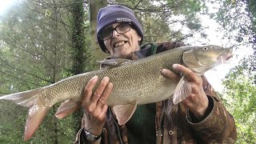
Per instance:
[[[102,41],[106,41],[113,37],[113,31],[116,30],[118,34],[125,34],[128,31],[130,31],[130,25],[131,23],[122,23],[119,26],[116,27],[108,27],[105,30],[102,30],[102,34],[100,34],[100,37]]]

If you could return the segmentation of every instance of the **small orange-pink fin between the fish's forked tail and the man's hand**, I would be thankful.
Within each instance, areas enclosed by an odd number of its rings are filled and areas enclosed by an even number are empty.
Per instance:
[[[78,110],[80,107],[80,103],[76,102],[72,99],[66,100],[65,102],[62,102],[62,105],[58,107],[58,111],[55,114],[57,118],[63,118],[68,114],[73,113],[75,110]]]

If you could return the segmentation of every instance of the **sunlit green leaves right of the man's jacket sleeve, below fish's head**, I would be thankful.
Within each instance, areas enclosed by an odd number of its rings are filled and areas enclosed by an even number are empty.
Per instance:
[[[237,143],[256,142],[256,71],[252,69],[255,60],[254,56],[244,58],[223,81],[226,86],[223,97],[237,125]]]

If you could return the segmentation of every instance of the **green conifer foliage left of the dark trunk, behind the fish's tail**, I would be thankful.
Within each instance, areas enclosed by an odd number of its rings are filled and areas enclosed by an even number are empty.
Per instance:
[[[85,35],[90,34],[90,30],[86,25],[82,26],[87,30],[76,29],[76,18],[70,10],[73,3],[82,7],[78,13],[84,14],[82,1],[26,0],[18,1],[6,17],[0,19],[1,95],[48,86],[74,74],[74,51],[78,42],[90,41]],[[72,37],[74,31],[78,32],[77,37]],[[79,46],[82,53],[76,54],[87,56],[86,44]],[[86,58],[80,58],[82,70],[89,69],[85,66],[89,61]],[[22,136],[28,109],[2,101],[0,143],[74,142],[81,117],[67,116],[58,120],[54,116],[58,106],[50,110],[33,138],[24,142]]]

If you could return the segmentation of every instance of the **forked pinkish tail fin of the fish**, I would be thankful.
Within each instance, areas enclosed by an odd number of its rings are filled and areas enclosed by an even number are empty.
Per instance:
[[[41,89],[28,90],[20,93],[9,94],[0,97],[0,100],[9,100],[20,106],[29,107],[29,115],[26,118],[24,140],[30,139],[38,126],[42,123],[50,107],[45,106],[42,100]]]

